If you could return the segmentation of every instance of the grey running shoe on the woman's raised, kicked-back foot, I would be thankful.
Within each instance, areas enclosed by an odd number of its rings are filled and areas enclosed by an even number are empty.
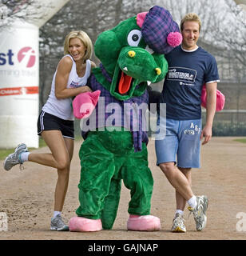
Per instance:
[[[20,169],[22,170],[22,160],[20,158],[23,152],[28,152],[26,144],[22,143],[17,146],[14,150],[14,153],[9,154],[5,161],[3,162],[3,168],[5,170],[10,170],[13,166],[20,165]]]

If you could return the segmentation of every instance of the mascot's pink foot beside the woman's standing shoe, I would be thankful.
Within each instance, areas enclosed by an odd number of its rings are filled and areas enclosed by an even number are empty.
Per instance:
[[[101,219],[73,217],[69,220],[69,231],[89,232],[102,230]]]

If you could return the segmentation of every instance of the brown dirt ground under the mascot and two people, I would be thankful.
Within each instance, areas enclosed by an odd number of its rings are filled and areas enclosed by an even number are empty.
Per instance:
[[[149,166],[155,180],[152,214],[161,218],[161,230],[157,232],[136,232],[126,230],[129,190],[122,186],[121,202],[113,230],[95,233],[73,233],[50,231],[50,217],[53,214],[54,185],[56,170],[25,163],[25,170],[18,166],[6,172],[1,167],[0,212],[8,216],[8,231],[0,231],[2,239],[45,239],[45,240],[228,240],[246,239],[246,230],[236,230],[236,223],[246,219],[236,218],[240,212],[246,214],[246,144],[233,141],[235,138],[212,138],[202,147],[202,168],[193,170],[192,190],[195,194],[207,194],[208,223],[201,232],[196,232],[192,215],[188,218],[185,210],[187,233],[170,232],[175,210],[174,190],[164,174],[155,165],[154,142],[149,142]],[[69,190],[63,210],[69,220],[77,209],[77,183],[79,181],[79,159],[77,152],[80,142],[76,142],[73,157]],[[49,152],[48,148],[35,150]],[[2,166],[2,162],[0,162]],[[1,226],[0,226],[1,227]]]

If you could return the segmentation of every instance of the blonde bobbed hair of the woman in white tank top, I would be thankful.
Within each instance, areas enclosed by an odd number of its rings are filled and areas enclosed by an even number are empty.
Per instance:
[[[69,54],[69,40],[71,38],[79,38],[81,42],[85,46],[85,56],[84,60],[91,58],[93,53],[93,44],[88,36],[84,31],[77,30],[77,31],[71,31],[69,34],[66,35],[64,40],[64,54]]]

